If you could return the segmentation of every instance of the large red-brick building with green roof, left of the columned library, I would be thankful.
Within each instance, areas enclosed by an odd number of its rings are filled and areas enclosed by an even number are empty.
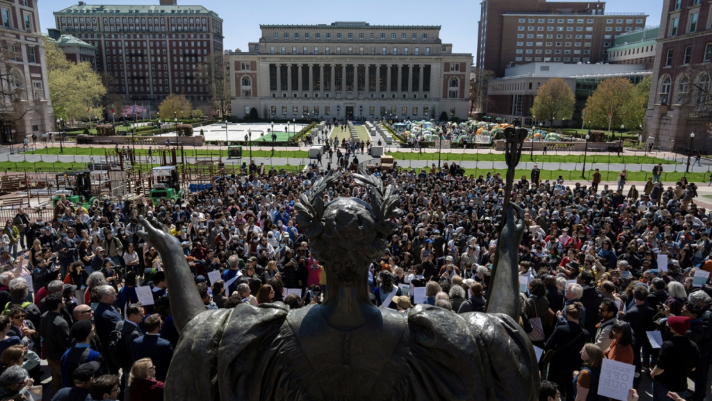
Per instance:
[[[209,100],[200,63],[223,52],[222,19],[203,6],[84,4],[55,11],[62,33],[96,46],[98,71],[114,77],[108,88],[127,100],[160,103],[182,93],[194,103]]]

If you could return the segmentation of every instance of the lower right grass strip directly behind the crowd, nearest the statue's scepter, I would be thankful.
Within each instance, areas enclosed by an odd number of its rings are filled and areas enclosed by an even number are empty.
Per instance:
[[[501,175],[506,175],[507,170],[491,170],[491,169],[465,169],[465,174],[466,175],[474,175],[475,177],[478,177],[479,175],[487,175],[488,172],[491,173],[500,173]],[[601,172],[601,180],[602,181],[616,181],[618,177],[617,171],[602,171]],[[586,172],[586,178],[582,179],[581,177],[581,172],[580,171],[573,171],[573,170],[541,170],[541,179],[543,181],[547,179],[557,179],[559,176],[563,177],[565,182],[567,184],[572,184],[575,182],[583,182],[583,181],[590,181],[591,177],[593,175],[593,170],[589,170]],[[530,179],[531,177],[531,170],[516,170],[514,177],[516,180],[519,180],[522,176],[527,177],[527,179]],[[666,173],[664,172],[663,175],[660,177],[662,182],[676,182],[682,177],[687,177],[687,180],[689,182],[707,182],[708,181],[708,173],[706,172],[695,172],[695,173],[685,173],[685,172],[669,172]],[[652,178],[653,175],[651,172],[628,172],[628,182],[645,182],[648,178]],[[613,188],[615,189],[615,188]],[[642,188],[638,188],[639,191],[642,191]]]

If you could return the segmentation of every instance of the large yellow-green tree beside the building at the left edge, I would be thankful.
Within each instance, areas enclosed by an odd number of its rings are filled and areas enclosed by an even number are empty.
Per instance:
[[[106,94],[101,77],[90,63],[74,63],[53,41],[45,42],[47,80],[54,113],[64,120],[103,118],[104,110],[95,107]],[[87,110],[90,110],[88,112]]]

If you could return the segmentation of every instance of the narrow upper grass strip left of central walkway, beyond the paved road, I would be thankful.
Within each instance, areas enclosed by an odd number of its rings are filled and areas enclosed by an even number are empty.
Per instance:
[[[60,152],[59,147],[47,147],[40,148],[38,150],[33,150],[30,152],[25,152],[26,155],[65,155],[65,156],[91,156],[98,155],[104,156],[105,152],[108,151],[110,155],[114,153],[113,147],[65,147],[63,152]],[[243,157],[248,157],[250,152],[250,147],[242,147]],[[157,156],[159,152],[153,150],[152,155]],[[186,157],[227,157],[227,150],[206,150],[206,149],[184,149],[184,154]],[[148,155],[148,149],[136,149],[136,155]],[[309,152],[305,150],[275,150],[274,155],[272,155],[272,150],[252,150],[252,157],[296,157],[296,158],[306,158],[309,157]]]

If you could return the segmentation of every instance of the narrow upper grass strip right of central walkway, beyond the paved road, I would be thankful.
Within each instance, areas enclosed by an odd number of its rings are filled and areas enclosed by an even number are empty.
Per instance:
[[[437,153],[419,153],[419,152],[392,152],[388,155],[393,156],[395,160],[437,160]],[[465,162],[504,162],[504,153],[462,153],[462,152],[442,152],[441,160],[465,161]],[[551,162],[551,163],[582,163],[584,155],[534,155],[535,162]],[[529,155],[522,155],[523,162],[530,161]],[[591,163],[614,163],[614,164],[631,164],[631,165],[653,165],[662,163],[664,165],[672,165],[674,162],[659,159],[651,156],[608,156],[608,155],[587,155],[586,162]]]

